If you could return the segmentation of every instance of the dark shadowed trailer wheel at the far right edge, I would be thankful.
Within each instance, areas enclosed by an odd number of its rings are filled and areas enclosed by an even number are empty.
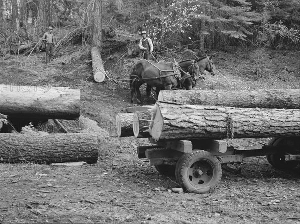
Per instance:
[[[270,146],[280,146],[284,147],[284,137],[276,137],[272,138],[268,145]],[[284,154],[276,153],[266,156],[267,161],[277,169],[292,169],[296,167],[299,162],[298,161],[286,161]]]

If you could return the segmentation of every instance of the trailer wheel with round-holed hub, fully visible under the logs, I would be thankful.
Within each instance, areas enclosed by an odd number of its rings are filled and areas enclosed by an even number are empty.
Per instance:
[[[177,182],[186,192],[209,193],[221,180],[221,163],[207,151],[194,150],[180,157],[175,175]]]

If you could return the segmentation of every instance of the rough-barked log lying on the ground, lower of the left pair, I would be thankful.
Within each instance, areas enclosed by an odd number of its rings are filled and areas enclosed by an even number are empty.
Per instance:
[[[96,163],[99,143],[95,134],[9,134],[0,133],[0,161],[39,164]]]

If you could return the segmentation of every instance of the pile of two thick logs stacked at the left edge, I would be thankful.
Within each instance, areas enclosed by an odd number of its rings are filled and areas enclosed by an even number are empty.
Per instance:
[[[14,127],[20,122],[25,125],[31,121],[78,120],[79,117],[80,90],[0,85],[2,132],[2,126],[7,124],[6,119],[16,130]],[[21,133],[0,133],[0,162],[50,164],[78,161],[95,163],[98,160],[99,143],[95,133],[49,134],[35,131],[29,126],[22,128],[24,125],[20,126]]]

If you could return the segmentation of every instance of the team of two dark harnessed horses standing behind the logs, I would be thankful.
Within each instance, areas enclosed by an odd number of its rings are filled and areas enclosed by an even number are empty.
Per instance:
[[[204,70],[207,70],[211,75],[215,75],[216,69],[211,58],[212,56],[206,56],[196,60],[185,60],[177,65],[165,62],[155,63],[145,59],[139,60],[131,68],[131,103],[134,101],[134,94],[137,94],[137,101],[140,103],[139,88],[144,83],[147,84],[148,97],[151,87],[154,86],[157,96],[160,90],[170,90],[175,87],[185,87],[185,89],[191,90],[199,80],[199,73],[202,74]]]

